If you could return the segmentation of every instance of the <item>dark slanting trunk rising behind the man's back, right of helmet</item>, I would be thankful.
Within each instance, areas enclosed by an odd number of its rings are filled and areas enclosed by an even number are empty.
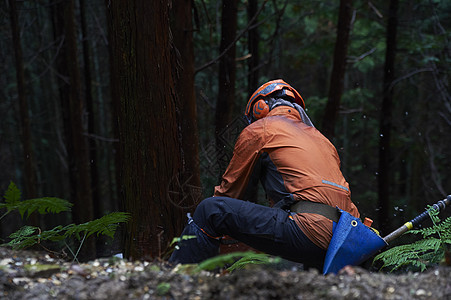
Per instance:
[[[348,53],[349,32],[352,20],[352,0],[340,0],[337,40],[334,50],[334,65],[330,78],[329,97],[323,118],[322,132],[332,140],[335,136],[335,123],[343,94],[346,56]]]

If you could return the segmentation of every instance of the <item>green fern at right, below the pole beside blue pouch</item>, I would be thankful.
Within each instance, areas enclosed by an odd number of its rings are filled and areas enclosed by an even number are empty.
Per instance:
[[[440,221],[438,211],[429,208],[433,225],[407,233],[420,234],[422,238],[414,243],[396,246],[382,252],[374,262],[383,263],[381,269],[390,272],[400,268],[414,268],[421,272],[428,266],[440,263],[445,258],[447,247],[451,245],[451,217]]]

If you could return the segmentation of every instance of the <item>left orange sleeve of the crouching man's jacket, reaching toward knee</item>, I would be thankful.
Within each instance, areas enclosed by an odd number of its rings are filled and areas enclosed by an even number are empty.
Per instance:
[[[245,193],[251,190],[248,188],[249,179],[264,144],[262,123],[255,122],[241,132],[221,184],[215,187],[214,196],[245,200]],[[258,180],[252,180],[253,185],[257,183]]]

